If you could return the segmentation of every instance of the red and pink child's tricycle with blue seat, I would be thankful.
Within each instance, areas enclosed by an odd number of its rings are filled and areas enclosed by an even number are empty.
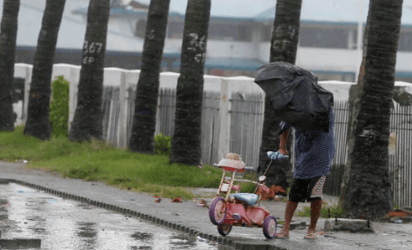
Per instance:
[[[270,167],[269,163],[268,169]],[[216,197],[209,207],[210,221],[217,225],[220,235],[226,236],[232,230],[232,226],[262,227],[266,238],[272,239],[276,236],[277,221],[270,213],[260,207],[263,193],[269,193],[270,189],[264,184],[265,174],[257,181],[236,179],[236,173],[246,170],[245,163],[238,159],[222,159],[215,167],[223,169],[222,179]],[[229,176],[226,176],[229,173]],[[231,176],[230,176],[231,173]],[[234,183],[238,183],[235,185]],[[256,184],[254,193],[239,193],[241,182],[252,182]],[[235,193],[231,193],[235,191]]]

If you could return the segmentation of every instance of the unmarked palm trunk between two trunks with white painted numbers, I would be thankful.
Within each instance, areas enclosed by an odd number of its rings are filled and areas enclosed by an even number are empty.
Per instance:
[[[166,37],[170,0],[152,0],[147,17],[142,67],[137,84],[129,150],[154,153],[159,73]]]

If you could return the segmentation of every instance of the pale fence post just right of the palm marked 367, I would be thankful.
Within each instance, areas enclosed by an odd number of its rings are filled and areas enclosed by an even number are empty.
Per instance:
[[[126,99],[126,72],[124,70],[120,70],[120,89],[119,89],[119,127],[118,127],[118,134],[117,134],[117,145],[120,148],[126,148],[127,142],[127,116],[126,116],[126,109],[127,109],[127,99]]]

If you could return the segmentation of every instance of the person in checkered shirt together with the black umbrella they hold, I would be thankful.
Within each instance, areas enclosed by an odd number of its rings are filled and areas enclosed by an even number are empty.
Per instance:
[[[274,115],[280,118],[280,148],[268,152],[272,160],[288,158],[285,144],[295,129],[295,172],[286,204],[285,221],[277,238],[288,238],[290,222],[299,202],[309,201],[310,225],[305,238],[316,238],[322,191],[335,155],[333,93],[318,84],[312,72],[286,62],[258,68],[255,82],[265,91]]]

